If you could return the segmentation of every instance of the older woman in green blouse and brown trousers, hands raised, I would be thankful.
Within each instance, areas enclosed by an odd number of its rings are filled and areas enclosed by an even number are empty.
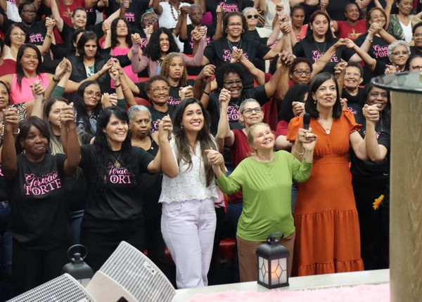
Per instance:
[[[241,282],[257,280],[255,251],[276,231],[283,232],[281,244],[290,252],[290,275],[295,242],[295,225],[290,206],[292,179],[302,182],[309,178],[316,135],[300,129],[298,140],[301,140],[304,148],[302,162],[286,151],[274,152],[275,140],[267,124],[250,126],[248,143],[255,154],[243,159],[227,177],[220,169],[222,155],[215,150],[208,151],[208,160],[222,192],[243,192],[243,210],[236,234]]]

